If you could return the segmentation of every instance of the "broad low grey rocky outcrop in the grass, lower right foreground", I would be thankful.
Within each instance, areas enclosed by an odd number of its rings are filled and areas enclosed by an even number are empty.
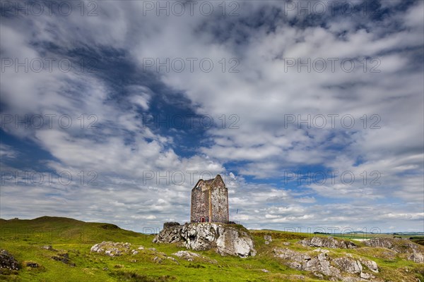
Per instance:
[[[319,252],[319,254],[316,254]],[[363,262],[368,270],[378,272],[378,266],[375,262],[368,260],[353,259],[351,255],[346,254],[345,257],[332,258],[329,256],[328,250],[314,250],[312,255],[306,252],[297,252],[289,250],[288,248],[274,248],[274,257],[283,259],[284,264],[302,271],[312,271],[316,276],[322,278],[329,276],[338,281],[361,281],[361,278],[371,279],[375,278],[374,275],[365,272],[365,267],[361,264]],[[351,275],[354,276],[346,276]]]

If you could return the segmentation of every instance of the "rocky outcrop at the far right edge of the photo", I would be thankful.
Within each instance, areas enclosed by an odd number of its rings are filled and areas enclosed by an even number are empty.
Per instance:
[[[394,252],[406,254],[406,259],[420,264],[424,263],[424,247],[409,240],[399,238],[372,238],[365,241],[368,247],[385,247]]]

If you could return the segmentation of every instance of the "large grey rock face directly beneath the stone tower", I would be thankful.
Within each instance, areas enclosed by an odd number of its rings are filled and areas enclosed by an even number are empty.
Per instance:
[[[179,243],[192,250],[215,248],[220,255],[256,255],[253,240],[245,228],[222,223],[186,223],[183,226],[165,223],[153,243]]]

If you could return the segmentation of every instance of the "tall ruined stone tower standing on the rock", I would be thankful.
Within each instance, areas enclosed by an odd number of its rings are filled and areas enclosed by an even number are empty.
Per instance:
[[[199,180],[192,189],[191,222],[228,223],[228,189],[218,174],[210,180]]]

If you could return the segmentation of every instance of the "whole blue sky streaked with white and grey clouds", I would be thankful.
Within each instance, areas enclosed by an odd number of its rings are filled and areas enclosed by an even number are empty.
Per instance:
[[[423,1],[2,1],[4,219],[424,231]],[[319,229],[321,228],[321,229]]]

